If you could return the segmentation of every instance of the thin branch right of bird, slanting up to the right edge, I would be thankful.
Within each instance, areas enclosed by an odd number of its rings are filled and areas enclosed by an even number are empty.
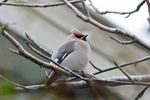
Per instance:
[[[120,64],[119,66],[120,66],[120,67],[125,67],[125,66],[132,65],[132,64],[138,64],[138,63],[140,63],[140,62],[147,61],[147,60],[150,60],[150,56],[147,56],[147,57],[144,57],[144,58],[135,60],[135,61],[131,61],[131,62],[128,62],[128,63]],[[107,71],[110,71],[110,70],[114,70],[114,69],[116,69],[116,68],[117,68],[117,67],[114,66],[114,67],[111,67],[111,68],[108,68],[108,69],[104,69],[104,70],[101,70],[100,72],[94,73],[94,75],[100,74],[100,73],[103,73],[103,72],[107,72]]]

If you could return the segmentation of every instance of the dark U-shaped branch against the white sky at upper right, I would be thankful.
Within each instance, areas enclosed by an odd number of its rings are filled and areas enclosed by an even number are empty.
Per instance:
[[[145,0],[143,0],[142,2],[140,2],[136,9],[133,10],[133,11],[130,11],[130,12],[117,12],[117,11],[105,11],[105,12],[101,12],[99,11],[92,3],[92,0],[89,0],[91,2],[91,5],[93,7],[93,9],[99,13],[99,14],[109,14],[109,13],[112,13],[112,14],[120,14],[120,15],[127,15],[125,18],[128,18],[131,14],[135,13],[135,12],[138,12],[140,10],[140,8],[143,6],[143,4],[145,3]]]

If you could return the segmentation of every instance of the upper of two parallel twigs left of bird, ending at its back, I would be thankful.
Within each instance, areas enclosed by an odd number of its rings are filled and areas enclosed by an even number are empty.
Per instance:
[[[43,51],[44,53],[46,53],[47,55],[51,56],[52,54],[47,51],[46,49],[44,49],[43,47],[41,47],[36,41],[34,41],[27,33],[25,33],[26,37],[33,43],[35,44],[41,51]]]

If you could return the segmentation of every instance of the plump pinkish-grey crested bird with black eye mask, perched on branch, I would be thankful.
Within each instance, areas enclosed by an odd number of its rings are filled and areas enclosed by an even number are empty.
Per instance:
[[[53,52],[51,59],[74,72],[82,74],[89,63],[91,52],[86,39],[87,36],[87,34],[84,35],[77,29],[72,29],[65,42]],[[55,65],[52,62],[50,64]],[[63,76],[61,73],[53,70],[45,83],[45,88],[48,88],[61,76]]]

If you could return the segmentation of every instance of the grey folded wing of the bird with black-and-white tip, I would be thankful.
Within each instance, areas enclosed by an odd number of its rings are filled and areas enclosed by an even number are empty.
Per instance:
[[[70,53],[75,50],[74,44],[75,41],[64,43],[53,53],[52,59],[57,63],[61,63]]]

